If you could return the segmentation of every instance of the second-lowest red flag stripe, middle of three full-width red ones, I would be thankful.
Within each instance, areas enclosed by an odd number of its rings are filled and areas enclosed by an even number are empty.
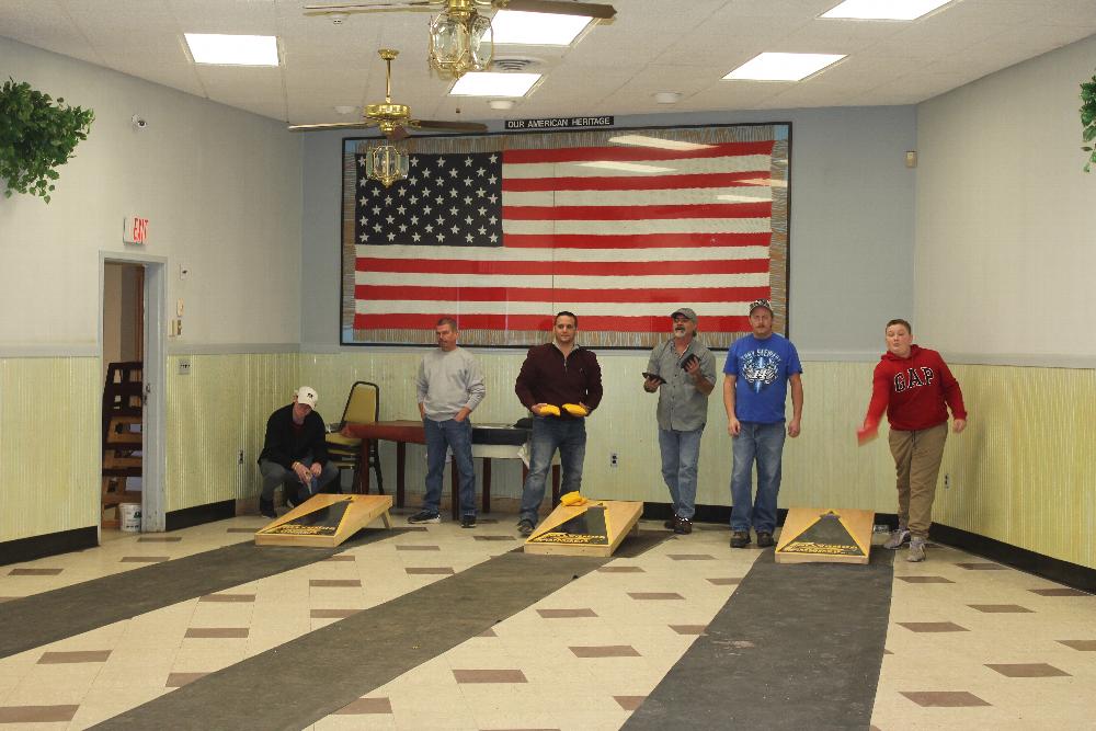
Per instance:
[[[767,298],[768,287],[697,287],[695,289],[552,289],[549,287],[406,287],[359,284],[362,300],[437,302],[747,302]]]

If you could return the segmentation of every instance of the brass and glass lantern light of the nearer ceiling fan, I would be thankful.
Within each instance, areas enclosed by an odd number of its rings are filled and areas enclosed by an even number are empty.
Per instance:
[[[430,21],[430,67],[443,79],[486,71],[494,57],[491,19],[476,11],[475,0],[447,0]]]

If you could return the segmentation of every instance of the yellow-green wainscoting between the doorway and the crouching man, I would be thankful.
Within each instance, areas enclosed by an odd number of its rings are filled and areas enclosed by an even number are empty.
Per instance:
[[[181,357],[189,375],[179,375]],[[168,358],[169,512],[259,494],[266,418],[293,400],[298,361],[296,353]]]

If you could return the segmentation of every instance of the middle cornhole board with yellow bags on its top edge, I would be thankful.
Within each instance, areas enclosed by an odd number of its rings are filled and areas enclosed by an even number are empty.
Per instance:
[[[639,530],[643,503],[587,500],[559,505],[525,540],[526,553],[613,556],[629,530]]]

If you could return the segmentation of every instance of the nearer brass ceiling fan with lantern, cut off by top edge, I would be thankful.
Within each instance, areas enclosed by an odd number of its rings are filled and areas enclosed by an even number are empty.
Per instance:
[[[390,0],[305,5],[309,15],[345,16],[352,13],[436,12],[430,21],[430,66],[444,79],[459,79],[469,71],[486,71],[494,57],[491,19],[480,11],[512,10],[609,20],[613,5],[569,0]]]

